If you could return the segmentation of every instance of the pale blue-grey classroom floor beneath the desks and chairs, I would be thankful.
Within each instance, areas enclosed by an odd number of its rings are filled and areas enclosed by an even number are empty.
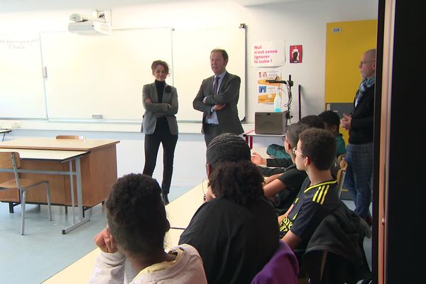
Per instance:
[[[172,202],[189,188],[173,187]],[[345,201],[354,209],[353,202]],[[62,229],[72,224],[71,210],[53,206],[53,221],[48,221],[47,207],[28,204],[26,234],[21,236],[21,206],[9,214],[9,205],[0,202],[0,283],[43,283],[63,268],[95,249],[93,237],[106,224],[102,205],[89,209],[90,221],[63,235]],[[364,248],[371,262],[371,239]],[[370,263],[371,266],[371,263]],[[70,283],[73,283],[70,280]]]

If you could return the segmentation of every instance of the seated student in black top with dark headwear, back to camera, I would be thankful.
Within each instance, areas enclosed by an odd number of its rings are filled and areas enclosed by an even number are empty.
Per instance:
[[[278,249],[277,217],[243,138],[224,133],[207,147],[207,202],[180,236],[202,257],[209,284],[250,283]],[[212,198],[215,197],[215,198]]]

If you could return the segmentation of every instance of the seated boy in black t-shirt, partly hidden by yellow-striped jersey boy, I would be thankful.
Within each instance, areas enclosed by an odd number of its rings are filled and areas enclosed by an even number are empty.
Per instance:
[[[291,204],[293,204],[297,193],[299,193],[303,181],[307,177],[305,170],[297,170],[296,168],[293,148],[295,148],[299,141],[299,134],[309,128],[310,126],[300,123],[288,126],[285,133],[284,148],[285,152],[290,155],[293,164],[285,168],[285,172],[279,174],[278,178],[266,178],[265,185],[263,185],[265,196],[271,198],[271,200],[276,200],[273,203],[275,205],[275,212],[278,215],[287,212]]]

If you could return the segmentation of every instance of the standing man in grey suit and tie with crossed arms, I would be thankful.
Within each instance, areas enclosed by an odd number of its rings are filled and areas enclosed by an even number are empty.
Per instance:
[[[206,146],[221,133],[243,133],[236,105],[239,100],[240,77],[226,72],[228,53],[214,49],[210,66],[214,75],[202,81],[192,106],[202,111],[202,133]]]

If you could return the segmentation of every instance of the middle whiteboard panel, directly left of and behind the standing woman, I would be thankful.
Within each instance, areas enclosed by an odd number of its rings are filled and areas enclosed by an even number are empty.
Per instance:
[[[153,82],[153,60],[171,62],[171,29],[112,35],[41,33],[49,119],[142,119],[142,87]]]

